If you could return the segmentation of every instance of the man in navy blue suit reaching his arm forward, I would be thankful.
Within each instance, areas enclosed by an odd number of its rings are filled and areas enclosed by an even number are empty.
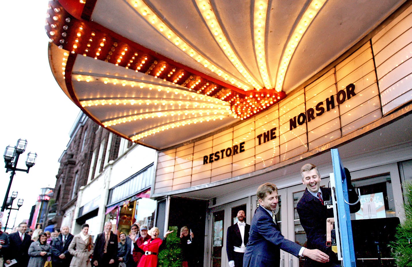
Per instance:
[[[249,242],[243,257],[243,267],[279,266],[280,249],[292,255],[306,256],[318,262],[328,262],[329,256],[318,249],[308,249],[285,239],[276,223],[274,210],[278,204],[278,189],[273,183],[258,188],[259,207],[250,224]]]

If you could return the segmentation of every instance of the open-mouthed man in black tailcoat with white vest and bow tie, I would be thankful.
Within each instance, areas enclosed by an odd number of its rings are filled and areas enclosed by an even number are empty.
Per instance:
[[[236,217],[237,223],[227,228],[226,251],[230,267],[242,267],[249,240],[250,225],[246,223],[245,212],[238,211]]]

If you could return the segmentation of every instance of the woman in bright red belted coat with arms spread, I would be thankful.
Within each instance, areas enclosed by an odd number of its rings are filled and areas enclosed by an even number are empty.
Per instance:
[[[157,255],[159,255],[159,251],[162,250],[160,247],[163,244],[166,244],[166,237],[173,231],[167,231],[164,235],[164,239],[160,239],[159,236],[159,228],[153,227],[150,229],[150,236],[151,238],[145,241],[142,245],[139,246],[141,250],[143,250],[143,256],[140,258],[139,264],[137,267],[156,267],[157,266]],[[164,245],[163,245],[164,246]]]

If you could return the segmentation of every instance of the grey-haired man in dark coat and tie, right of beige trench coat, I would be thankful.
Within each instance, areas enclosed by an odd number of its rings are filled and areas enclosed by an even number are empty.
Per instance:
[[[106,222],[103,233],[96,237],[91,262],[99,267],[117,266],[117,249],[117,235],[112,232],[112,223]]]

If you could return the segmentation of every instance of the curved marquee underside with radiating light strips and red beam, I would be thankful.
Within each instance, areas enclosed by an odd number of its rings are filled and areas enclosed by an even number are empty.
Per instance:
[[[403,2],[54,0],[45,28],[73,102],[166,149],[277,104]]]

